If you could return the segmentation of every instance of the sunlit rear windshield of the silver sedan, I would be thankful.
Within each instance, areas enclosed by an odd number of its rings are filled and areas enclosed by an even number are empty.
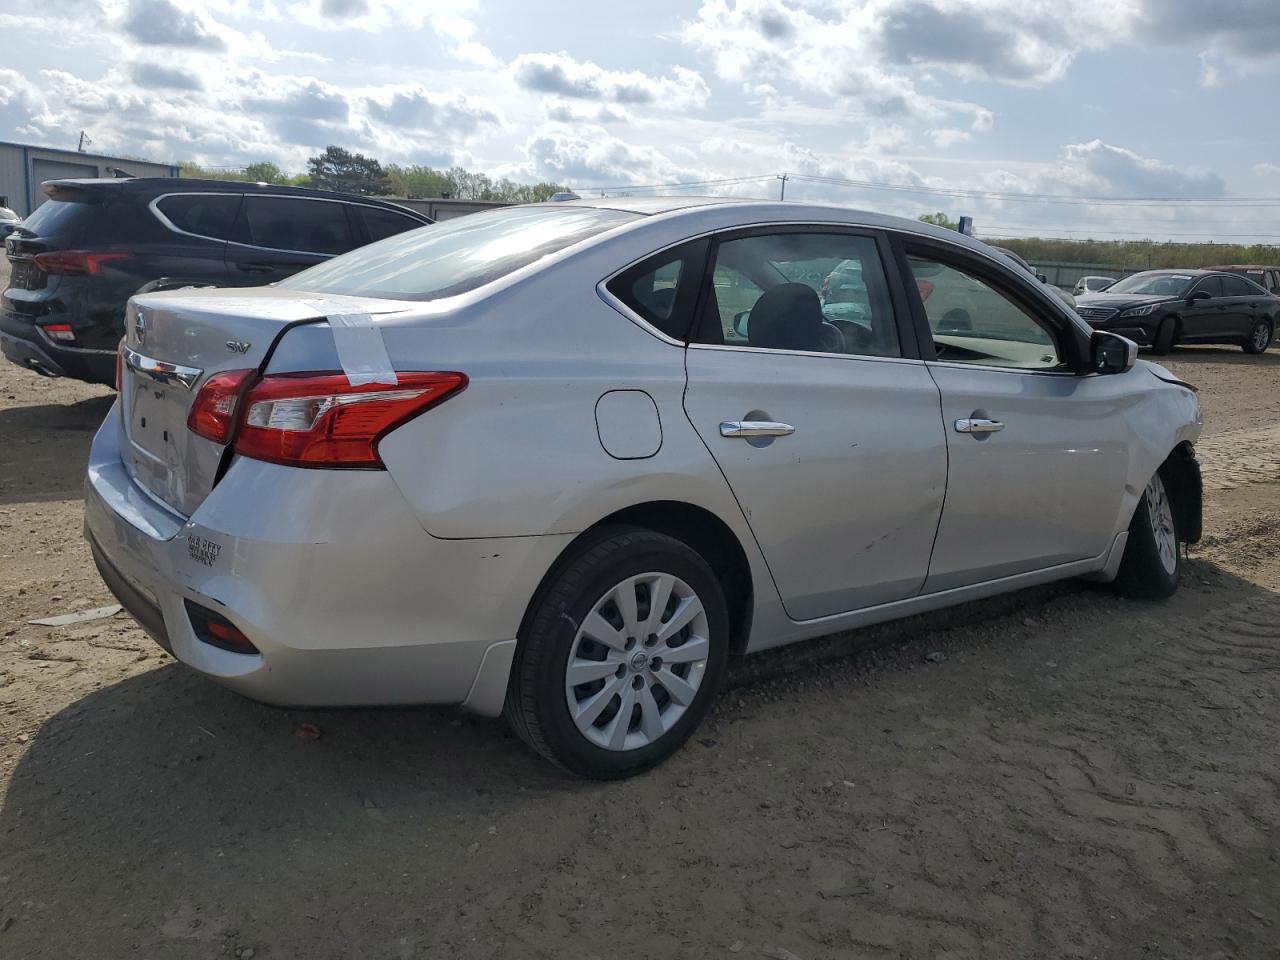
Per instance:
[[[370,243],[278,285],[387,300],[440,300],[493,283],[637,216],[589,206],[488,210]]]

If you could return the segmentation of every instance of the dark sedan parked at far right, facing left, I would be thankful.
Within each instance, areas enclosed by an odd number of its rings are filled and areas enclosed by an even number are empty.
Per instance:
[[[1075,312],[1155,353],[1178,343],[1238,343],[1261,353],[1280,325],[1280,298],[1235,274],[1147,270],[1080,297]]]

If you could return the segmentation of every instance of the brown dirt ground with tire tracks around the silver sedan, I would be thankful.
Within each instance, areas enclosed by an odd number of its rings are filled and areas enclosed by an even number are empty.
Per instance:
[[[124,616],[27,623],[110,602],[79,495],[111,394],[0,364],[0,956],[1280,956],[1280,353],[1169,366],[1208,424],[1175,599],[753,658],[599,785],[498,721],[276,710]]]

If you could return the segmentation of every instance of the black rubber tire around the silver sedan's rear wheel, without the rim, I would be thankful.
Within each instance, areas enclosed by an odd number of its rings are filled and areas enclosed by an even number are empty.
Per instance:
[[[599,552],[608,553],[600,562]],[[589,566],[584,566],[586,562]],[[655,744],[637,750],[607,750],[590,742],[573,723],[564,699],[564,669],[577,636],[577,625],[595,603],[628,576],[664,572],[684,580],[698,594],[707,613],[710,655],[694,703]],[[599,780],[625,777],[648,769],[689,739],[710,709],[728,660],[728,611],[719,582],[707,562],[685,544],[650,531],[620,534],[595,544],[570,563],[543,596],[521,644],[534,657],[521,657],[517,667],[531,671],[531,701],[543,742],[552,756],[573,773]]]

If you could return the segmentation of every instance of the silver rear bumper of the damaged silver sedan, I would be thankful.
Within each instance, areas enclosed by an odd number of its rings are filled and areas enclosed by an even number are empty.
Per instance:
[[[122,442],[116,406],[90,453],[86,538],[116,599],[184,664],[279,705],[500,712],[520,621],[568,536],[439,540],[383,471],[246,460],[182,518],[128,475]],[[201,640],[187,600],[259,653]]]

